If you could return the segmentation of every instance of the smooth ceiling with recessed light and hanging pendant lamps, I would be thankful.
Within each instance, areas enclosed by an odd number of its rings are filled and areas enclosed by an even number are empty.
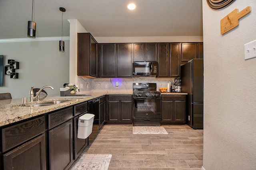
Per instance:
[[[130,11],[127,4],[137,8]],[[202,36],[202,0],[34,0],[36,37],[69,36],[77,19],[94,37]],[[0,39],[26,38],[32,0],[0,0]]]

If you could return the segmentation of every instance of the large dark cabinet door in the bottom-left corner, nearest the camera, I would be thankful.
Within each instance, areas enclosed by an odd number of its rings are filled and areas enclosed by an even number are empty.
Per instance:
[[[3,155],[4,170],[46,170],[45,135]]]

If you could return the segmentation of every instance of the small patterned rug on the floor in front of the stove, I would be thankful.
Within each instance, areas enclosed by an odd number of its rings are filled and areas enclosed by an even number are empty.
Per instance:
[[[132,134],[168,134],[162,126],[133,126]]]

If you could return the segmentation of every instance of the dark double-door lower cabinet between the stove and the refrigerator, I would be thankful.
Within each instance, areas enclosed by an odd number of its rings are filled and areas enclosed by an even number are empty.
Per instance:
[[[186,95],[162,95],[162,122],[186,122]]]

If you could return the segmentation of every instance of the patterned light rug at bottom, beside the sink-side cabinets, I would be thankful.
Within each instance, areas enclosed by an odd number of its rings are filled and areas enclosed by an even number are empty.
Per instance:
[[[69,170],[107,170],[112,154],[81,154]]]

